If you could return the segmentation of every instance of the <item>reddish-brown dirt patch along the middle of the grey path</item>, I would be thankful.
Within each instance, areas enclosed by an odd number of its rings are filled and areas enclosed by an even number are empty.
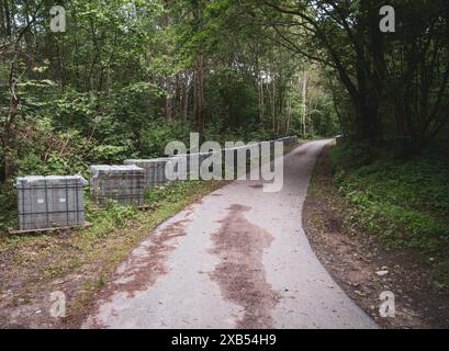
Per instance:
[[[226,299],[244,307],[237,328],[271,328],[270,310],[281,296],[266,281],[262,256],[273,238],[245,218],[244,213],[250,207],[232,205],[227,210],[228,215],[212,236],[214,248],[211,252],[220,257],[221,262],[210,276]]]

